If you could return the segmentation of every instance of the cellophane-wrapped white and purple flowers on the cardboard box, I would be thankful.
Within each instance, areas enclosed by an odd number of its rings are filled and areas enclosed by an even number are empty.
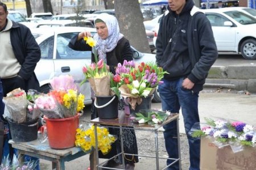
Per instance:
[[[241,121],[228,121],[224,118],[205,118],[206,123],[195,123],[189,134],[192,137],[209,136],[214,138],[218,148],[230,146],[234,153],[245,147],[256,147],[256,130],[254,126]]]

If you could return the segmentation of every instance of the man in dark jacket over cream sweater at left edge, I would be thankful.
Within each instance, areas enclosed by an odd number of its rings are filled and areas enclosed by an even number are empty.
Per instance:
[[[36,63],[41,57],[39,45],[29,28],[11,21],[7,15],[5,3],[0,2],[0,76],[3,96],[15,88],[22,88],[25,91],[30,88],[39,90],[39,82],[34,73]],[[3,120],[2,115],[1,119]],[[12,158],[13,148],[10,147],[9,150],[8,146],[10,133],[7,130],[5,133],[3,155],[10,154]],[[25,157],[27,158],[28,156]]]

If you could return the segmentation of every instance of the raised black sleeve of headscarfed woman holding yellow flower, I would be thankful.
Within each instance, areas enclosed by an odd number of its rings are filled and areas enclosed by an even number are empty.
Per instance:
[[[69,48],[77,51],[92,51],[92,47],[86,44],[86,41],[84,41],[83,39],[77,41],[78,36],[79,33],[71,38],[68,43]]]

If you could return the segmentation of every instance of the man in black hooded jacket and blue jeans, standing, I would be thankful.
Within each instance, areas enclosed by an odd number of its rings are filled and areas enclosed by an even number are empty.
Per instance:
[[[182,109],[191,170],[200,169],[200,139],[190,137],[188,131],[200,121],[199,92],[217,56],[210,22],[193,0],[168,0],[156,39],[156,63],[170,74],[164,75],[159,94],[163,111],[179,113]],[[177,122],[171,122],[164,126],[170,158],[179,158],[176,125]],[[172,162],[167,160],[167,164]],[[179,166],[177,162],[168,169],[179,169]]]

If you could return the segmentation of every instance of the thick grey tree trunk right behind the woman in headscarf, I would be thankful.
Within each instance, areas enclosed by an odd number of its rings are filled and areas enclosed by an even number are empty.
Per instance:
[[[130,44],[143,53],[151,53],[138,1],[118,0],[114,3],[120,32]]]

